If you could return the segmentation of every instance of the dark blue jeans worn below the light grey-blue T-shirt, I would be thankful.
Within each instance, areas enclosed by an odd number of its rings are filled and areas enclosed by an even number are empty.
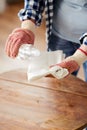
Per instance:
[[[80,47],[80,44],[64,40],[54,34],[51,34],[49,43],[48,43],[48,51],[55,50],[63,50],[66,57],[71,56],[74,52]],[[85,80],[87,81],[87,62],[83,64]],[[77,75],[78,71],[73,72],[73,75]]]

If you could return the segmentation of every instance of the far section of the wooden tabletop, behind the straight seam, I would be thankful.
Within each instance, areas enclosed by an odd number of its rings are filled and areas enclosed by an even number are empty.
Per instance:
[[[16,75],[16,76],[15,76]],[[76,78],[75,76],[68,76],[65,79],[57,80],[56,78],[43,77],[41,79],[29,82],[27,80],[27,69],[18,69],[3,73],[1,79],[9,80],[11,82],[18,82],[22,84],[35,85],[35,87],[43,87],[46,89],[69,92],[73,94],[87,96],[87,83]]]

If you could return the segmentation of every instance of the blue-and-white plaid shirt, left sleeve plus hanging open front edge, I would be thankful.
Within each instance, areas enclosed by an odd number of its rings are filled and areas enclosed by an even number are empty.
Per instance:
[[[24,9],[18,13],[20,20],[33,19],[37,26],[42,22],[42,14],[45,11],[46,18],[46,40],[52,31],[53,22],[53,0],[25,0]]]

